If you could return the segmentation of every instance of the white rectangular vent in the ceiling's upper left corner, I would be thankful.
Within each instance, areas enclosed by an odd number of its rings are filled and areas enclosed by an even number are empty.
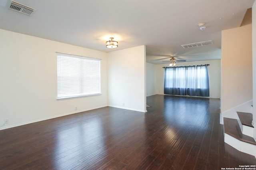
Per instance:
[[[18,13],[26,15],[26,16],[30,16],[32,14],[32,12],[35,10],[34,8],[31,8],[29,6],[20,4],[18,2],[12,1],[12,0],[10,0],[7,3],[6,7],[11,11],[18,12]]]

